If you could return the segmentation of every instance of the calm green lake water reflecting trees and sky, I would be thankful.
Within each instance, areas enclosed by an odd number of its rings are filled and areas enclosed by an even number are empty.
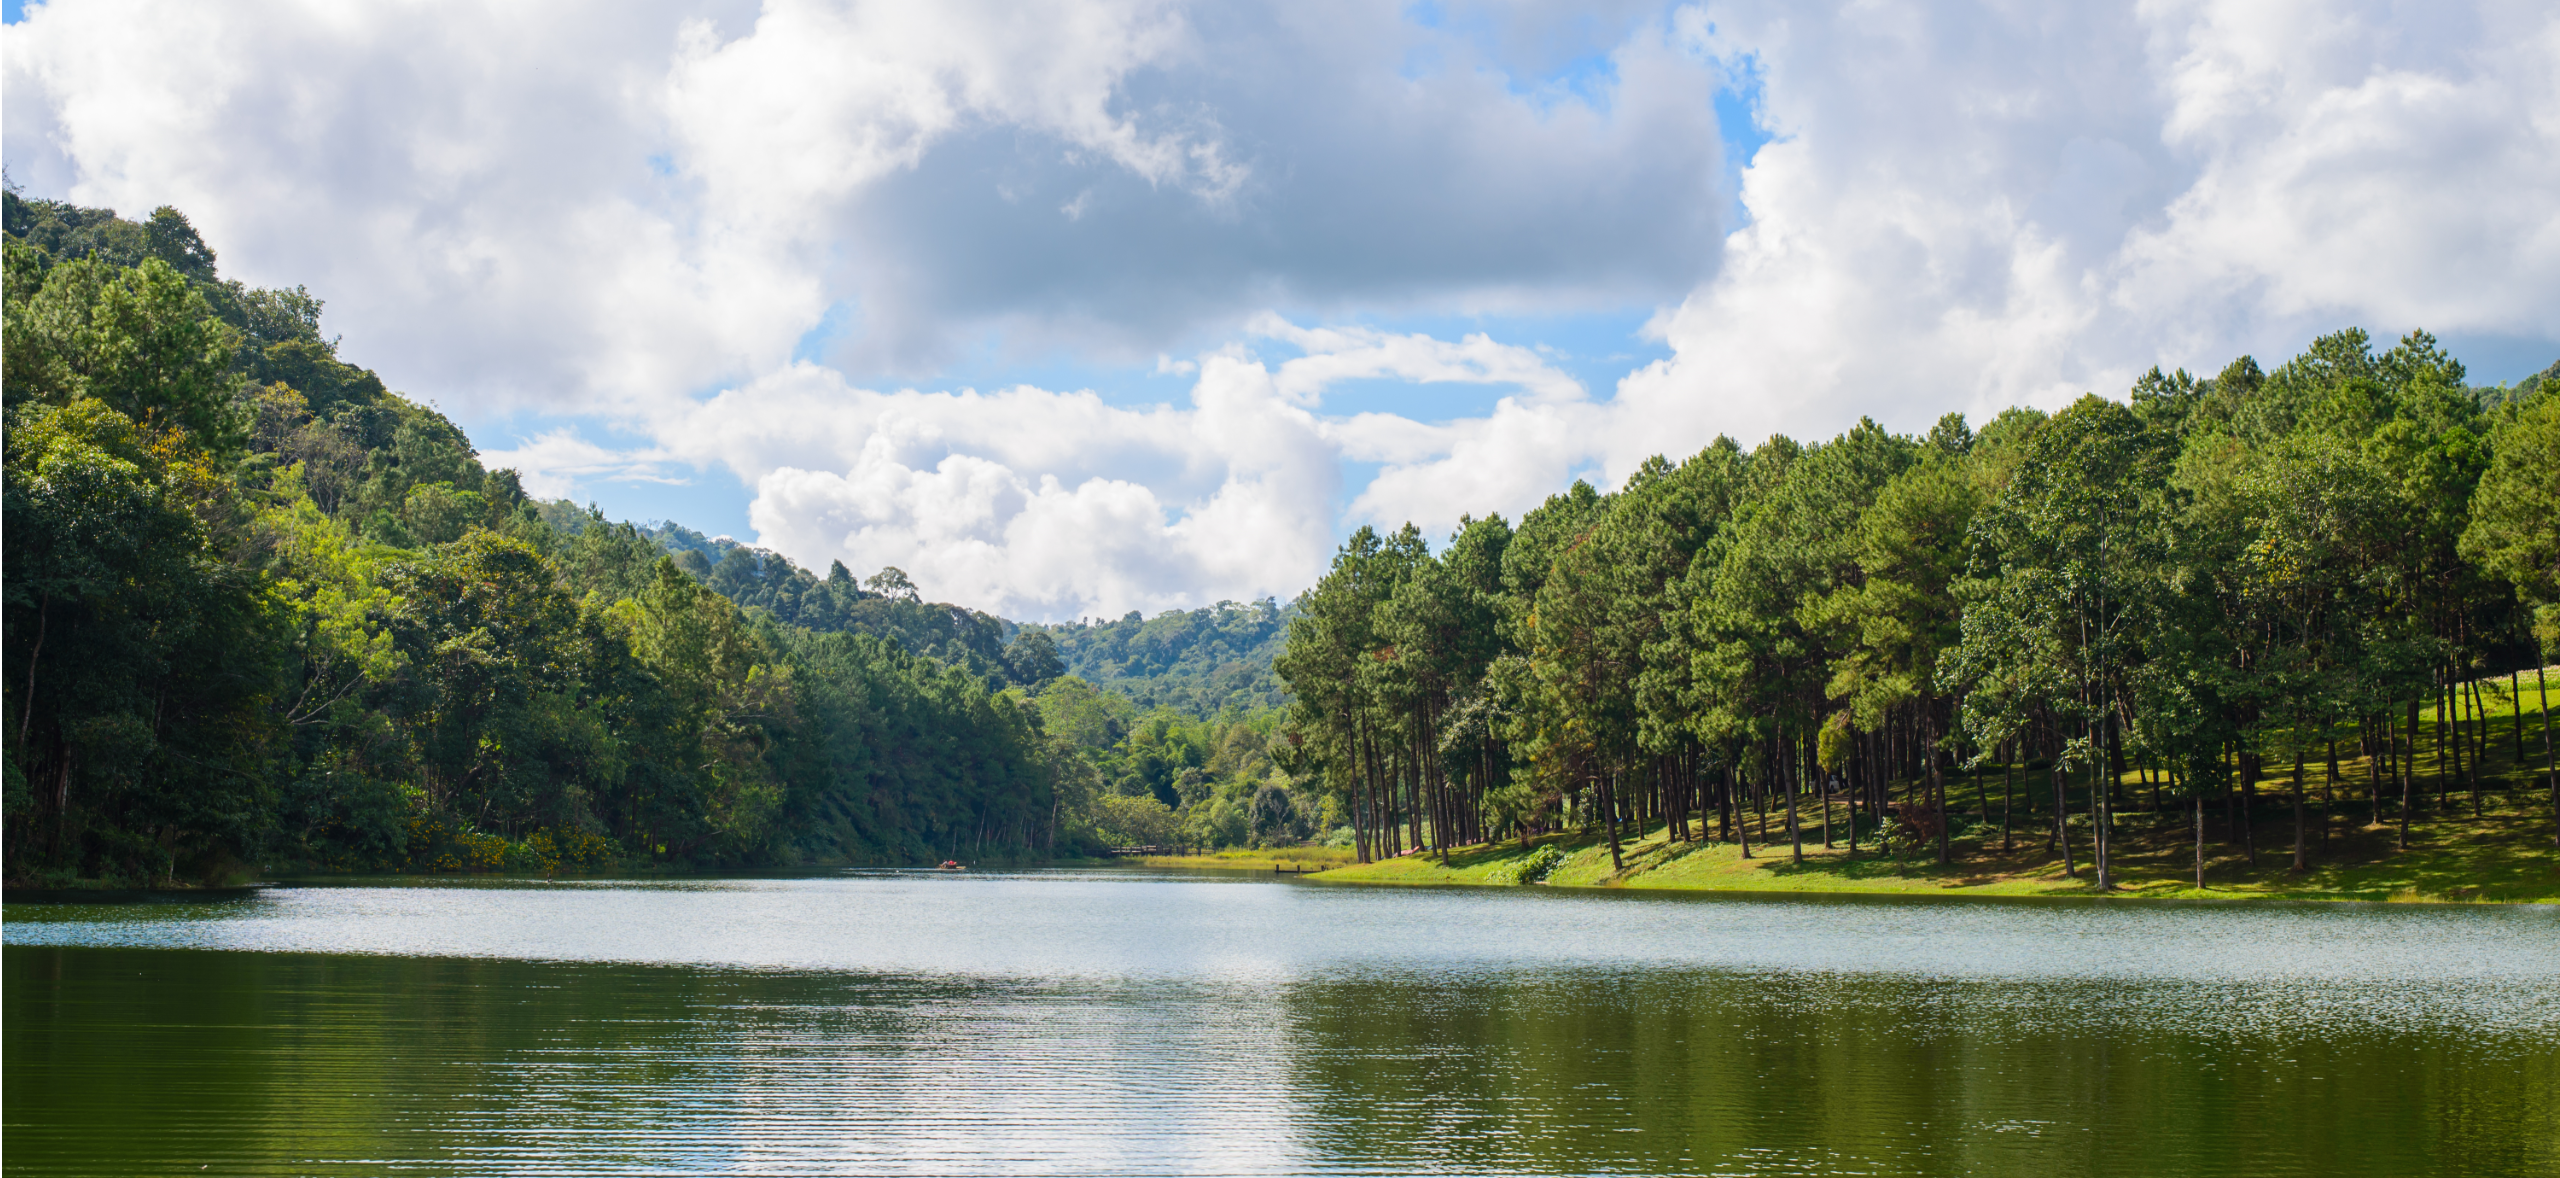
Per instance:
[[[5,909],[8,1173],[2560,1173],[2560,912],[1180,873]]]

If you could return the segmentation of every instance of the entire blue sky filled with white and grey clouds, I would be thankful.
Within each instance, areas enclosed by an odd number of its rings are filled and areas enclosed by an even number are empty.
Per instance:
[[[543,497],[1016,620],[1293,597],[1718,435],[2432,330],[2560,359],[2545,3],[5,3]]]

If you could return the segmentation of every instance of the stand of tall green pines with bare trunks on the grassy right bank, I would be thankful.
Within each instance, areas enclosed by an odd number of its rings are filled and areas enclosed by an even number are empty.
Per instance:
[[[1656,830],[1943,863],[1964,827],[2107,886],[2130,809],[2199,881],[2207,837],[2299,868],[2332,817],[2560,819],[2522,712],[2560,648],[2555,376],[2342,330],[1979,433],[1718,438],[1436,553],[1359,530],[1277,661],[1290,768],[1362,860]]]

